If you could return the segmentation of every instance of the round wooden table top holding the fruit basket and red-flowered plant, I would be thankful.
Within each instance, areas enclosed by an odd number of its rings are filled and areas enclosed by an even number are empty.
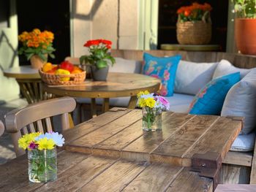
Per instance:
[[[112,98],[136,96],[140,91],[156,92],[160,80],[143,74],[110,72],[107,81],[86,80],[80,85],[47,85],[43,89],[59,96]]]

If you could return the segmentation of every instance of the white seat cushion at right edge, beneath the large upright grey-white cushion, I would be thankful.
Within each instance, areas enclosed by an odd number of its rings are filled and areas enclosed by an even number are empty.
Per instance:
[[[255,147],[255,132],[251,134],[240,134],[233,142],[230,150],[247,152],[253,150]]]

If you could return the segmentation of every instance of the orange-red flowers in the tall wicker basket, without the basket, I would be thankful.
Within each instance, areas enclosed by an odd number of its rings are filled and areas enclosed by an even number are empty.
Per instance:
[[[210,18],[211,5],[210,4],[198,4],[193,3],[190,6],[180,7],[177,10],[178,21],[196,21],[205,20]]]

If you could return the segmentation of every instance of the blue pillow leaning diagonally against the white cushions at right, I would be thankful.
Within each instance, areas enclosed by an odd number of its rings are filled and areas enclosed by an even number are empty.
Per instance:
[[[240,72],[217,77],[201,88],[189,107],[195,115],[219,115],[230,88],[240,80]]]

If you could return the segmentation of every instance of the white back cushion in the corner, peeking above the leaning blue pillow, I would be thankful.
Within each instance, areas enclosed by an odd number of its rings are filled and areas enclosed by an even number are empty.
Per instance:
[[[242,79],[250,71],[251,71],[251,69],[238,68],[238,67],[233,66],[232,64],[230,64],[230,61],[222,59],[222,61],[219,62],[217,68],[215,69],[214,76],[212,78],[214,79],[216,77],[220,77],[220,76],[223,76],[223,75],[226,75],[226,74],[240,72],[240,77]]]

